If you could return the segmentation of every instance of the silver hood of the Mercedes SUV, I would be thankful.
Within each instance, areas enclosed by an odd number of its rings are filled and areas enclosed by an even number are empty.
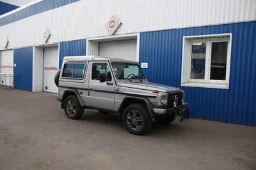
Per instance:
[[[132,83],[132,82],[125,82],[125,83],[118,83],[120,87],[128,87],[131,89],[141,89],[141,90],[158,90],[159,92],[178,92],[180,91],[179,88],[170,87],[168,85],[161,85],[157,83],[150,83],[150,82],[141,82],[141,83]]]

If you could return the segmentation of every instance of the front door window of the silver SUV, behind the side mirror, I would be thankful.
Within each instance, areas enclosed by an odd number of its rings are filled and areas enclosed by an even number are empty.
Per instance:
[[[92,80],[100,80],[100,74],[106,75],[106,80],[111,81],[111,71],[107,63],[93,63],[92,64]]]

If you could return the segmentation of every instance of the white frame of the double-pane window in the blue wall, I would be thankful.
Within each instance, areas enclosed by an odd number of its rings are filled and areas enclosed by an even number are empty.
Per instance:
[[[211,54],[212,43],[227,42],[227,65],[225,80],[211,80]],[[194,43],[206,43],[205,50],[205,75],[204,79],[191,79],[192,45]],[[205,87],[214,89],[228,89],[230,79],[232,34],[212,34],[203,36],[184,36],[182,50],[182,74],[181,86]]]

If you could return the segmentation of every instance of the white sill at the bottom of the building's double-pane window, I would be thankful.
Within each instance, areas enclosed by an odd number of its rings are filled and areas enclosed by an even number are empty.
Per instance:
[[[186,82],[182,83],[184,87],[203,87],[212,89],[228,89],[227,83],[206,83],[206,82]]]

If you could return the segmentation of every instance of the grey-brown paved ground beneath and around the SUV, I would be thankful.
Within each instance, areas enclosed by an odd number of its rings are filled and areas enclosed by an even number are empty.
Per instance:
[[[0,169],[256,169],[255,127],[175,120],[134,136],[116,120],[70,120],[55,95],[0,89]]]

